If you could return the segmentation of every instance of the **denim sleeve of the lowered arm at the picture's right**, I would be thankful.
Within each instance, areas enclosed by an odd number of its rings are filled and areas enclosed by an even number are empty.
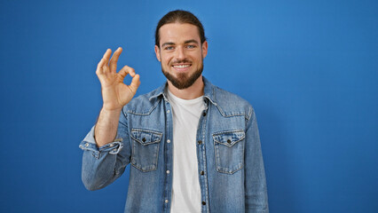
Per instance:
[[[263,154],[253,108],[250,110],[246,131],[245,201],[246,212],[269,212]]]

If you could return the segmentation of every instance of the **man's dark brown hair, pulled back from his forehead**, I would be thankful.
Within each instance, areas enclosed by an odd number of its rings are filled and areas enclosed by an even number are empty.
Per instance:
[[[165,14],[161,18],[161,20],[159,20],[159,23],[156,26],[155,45],[157,45],[159,48],[160,48],[159,29],[165,24],[170,24],[170,23],[175,23],[175,22],[183,23],[183,24],[193,24],[194,26],[198,28],[198,32],[200,33],[201,43],[204,43],[206,41],[205,30],[203,29],[201,21],[198,20],[197,17],[195,17],[192,12],[176,10],[176,11],[171,11]]]

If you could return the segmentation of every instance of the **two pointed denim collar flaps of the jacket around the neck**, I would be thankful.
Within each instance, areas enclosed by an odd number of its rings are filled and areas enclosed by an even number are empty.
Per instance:
[[[217,106],[217,100],[216,100],[216,97],[215,97],[215,90],[216,90],[216,86],[214,86],[212,83],[209,82],[209,80],[207,78],[205,78],[203,75],[202,75],[202,80],[203,80],[203,83],[205,84],[205,88],[203,90],[203,97],[205,99],[209,99],[209,101],[211,103],[213,103],[214,105]],[[165,93],[164,91],[165,90],[168,90],[168,83],[164,83],[162,84],[159,88],[157,88],[154,92],[153,92],[153,95],[149,98],[150,101],[153,101],[154,99],[158,99],[158,98],[163,98],[165,100],[167,100],[167,97],[165,96]]]

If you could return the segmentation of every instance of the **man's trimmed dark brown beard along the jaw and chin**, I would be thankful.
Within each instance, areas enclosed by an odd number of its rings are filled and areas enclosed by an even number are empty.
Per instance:
[[[180,62],[186,62],[186,61],[180,61]],[[169,80],[170,83],[172,83],[173,86],[175,86],[178,90],[184,90],[190,86],[193,85],[195,81],[202,75],[203,71],[203,59],[201,61],[201,66],[193,72],[193,74],[187,74],[187,73],[179,73],[177,74],[177,77],[174,75],[170,75],[167,70],[164,70],[164,68],[161,66],[161,72],[165,77]]]

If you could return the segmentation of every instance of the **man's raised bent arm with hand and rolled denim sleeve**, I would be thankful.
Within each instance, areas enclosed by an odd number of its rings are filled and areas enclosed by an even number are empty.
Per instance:
[[[107,50],[96,70],[101,83],[103,107],[98,115],[98,122],[80,145],[84,151],[83,184],[89,190],[112,183],[122,175],[130,162],[130,148],[122,151],[122,146],[128,146],[124,143],[129,138],[127,118],[122,114],[122,107],[130,102],[140,82],[139,75],[131,67],[125,66],[116,72],[121,52],[122,49],[119,48],[109,61],[112,51]],[[128,74],[132,77],[130,85],[123,83]]]

